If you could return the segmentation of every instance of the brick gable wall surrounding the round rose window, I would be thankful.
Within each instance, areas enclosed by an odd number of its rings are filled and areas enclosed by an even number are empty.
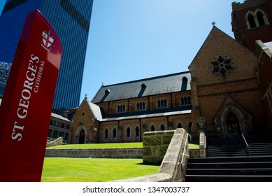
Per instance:
[[[208,69],[211,59],[221,54],[226,54],[236,63],[234,71],[229,76],[215,76]],[[192,118],[194,120],[197,120],[199,116],[206,118],[207,134],[216,134],[217,125],[226,129],[226,117],[222,115],[223,111],[228,109],[229,104],[234,104],[240,110],[238,113],[245,118],[240,123],[243,124],[241,127],[243,126],[244,129],[246,127],[247,133],[264,125],[262,98],[255,71],[256,59],[255,54],[220,29],[213,27],[213,30],[210,31],[198,55],[189,66],[192,78],[194,78],[191,85],[192,93],[197,94],[197,99],[194,97],[193,100],[194,106],[199,106],[198,112],[196,110],[192,112]],[[220,122],[215,123],[217,116]]]

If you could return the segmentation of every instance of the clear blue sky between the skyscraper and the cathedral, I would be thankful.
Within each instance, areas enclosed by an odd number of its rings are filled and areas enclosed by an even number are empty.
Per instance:
[[[188,71],[212,22],[234,37],[231,2],[94,0],[80,102],[102,83]]]

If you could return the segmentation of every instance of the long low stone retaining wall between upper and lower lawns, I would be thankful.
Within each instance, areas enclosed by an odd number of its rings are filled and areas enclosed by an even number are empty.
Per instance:
[[[46,149],[45,157],[143,158],[143,148]]]

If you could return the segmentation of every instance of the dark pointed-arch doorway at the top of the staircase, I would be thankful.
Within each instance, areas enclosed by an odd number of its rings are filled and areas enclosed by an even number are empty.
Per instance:
[[[235,113],[230,111],[226,118],[227,122],[227,133],[229,137],[240,137],[241,130],[239,125],[238,117]]]

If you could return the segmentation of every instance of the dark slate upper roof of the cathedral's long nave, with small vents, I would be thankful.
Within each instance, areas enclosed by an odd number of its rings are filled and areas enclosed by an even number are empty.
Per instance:
[[[92,99],[93,103],[145,97],[155,94],[191,90],[189,71],[134,80],[115,85],[102,85]]]

